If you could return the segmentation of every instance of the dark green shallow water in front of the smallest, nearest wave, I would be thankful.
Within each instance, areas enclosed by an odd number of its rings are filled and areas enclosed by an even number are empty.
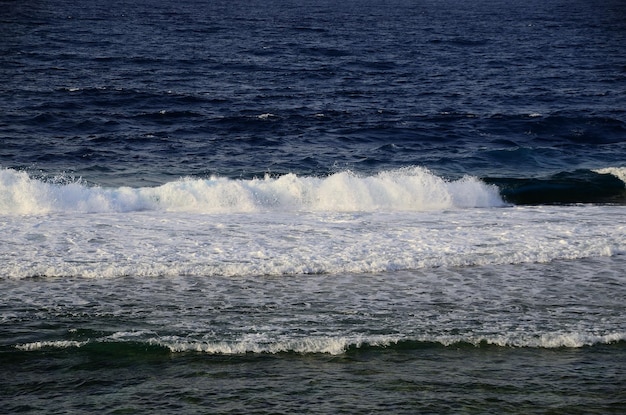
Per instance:
[[[626,345],[207,355],[140,345],[7,353],[6,413],[619,414]]]

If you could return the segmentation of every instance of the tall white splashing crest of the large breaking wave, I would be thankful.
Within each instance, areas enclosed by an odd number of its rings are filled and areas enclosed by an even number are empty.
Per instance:
[[[181,179],[159,187],[89,187],[54,183],[0,170],[0,214],[257,211],[424,211],[501,206],[496,187],[473,177],[447,181],[414,167],[373,176],[287,174],[263,179]]]

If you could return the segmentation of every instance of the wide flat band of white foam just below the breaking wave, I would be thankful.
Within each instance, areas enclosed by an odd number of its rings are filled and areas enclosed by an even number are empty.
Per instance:
[[[0,232],[0,278],[17,279],[361,273],[626,253],[623,207],[610,205],[50,214],[0,219]]]

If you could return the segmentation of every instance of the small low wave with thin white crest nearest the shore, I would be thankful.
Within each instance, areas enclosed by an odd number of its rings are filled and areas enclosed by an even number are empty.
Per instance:
[[[143,338],[142,338],[143,337]],[[450,347],[503,347],[532,349],[579,349],[600,345],[616,345],[626,342],[625,332],[607,334],[590,333],[542,333],[542,334],[494,334],[494,335],[432,335],[409,338],[400,335],[347,335],[305,338],[272,339],[268,336],[250,334],[234,341],[194,341],[178,336],[144,337],[105,336],[85,341],[38,341],[15,346],[20,351],[32,352],[49,349],[82,348],[88,351],[124,355],[131,351],[150,353],[205,353],[210,355],[245,354],[328,354],[343,355],[365,350],[421,350],[425,348]]]

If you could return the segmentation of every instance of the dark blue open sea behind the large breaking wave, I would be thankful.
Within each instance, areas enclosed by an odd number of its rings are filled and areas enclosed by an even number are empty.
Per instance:
[[[623,166],[619,1],[5,1],[0,164],[180,176]]]

